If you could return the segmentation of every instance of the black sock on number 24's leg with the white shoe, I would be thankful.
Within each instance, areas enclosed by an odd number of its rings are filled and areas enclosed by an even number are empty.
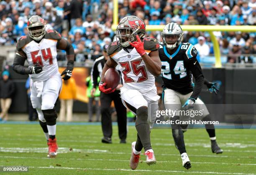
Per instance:
[[[174,120],[174,121],[177,119],[179,119],[179,116],[174,116],[172,118],[172,120]],[[179,153],[182,154],[182,153],[186,152],[182,129],[181,129],[180,125],[175,124],[175,122],[174,122],[174,124],[172,124],[172,136],[174,138],[175,144],[178,147]]]

